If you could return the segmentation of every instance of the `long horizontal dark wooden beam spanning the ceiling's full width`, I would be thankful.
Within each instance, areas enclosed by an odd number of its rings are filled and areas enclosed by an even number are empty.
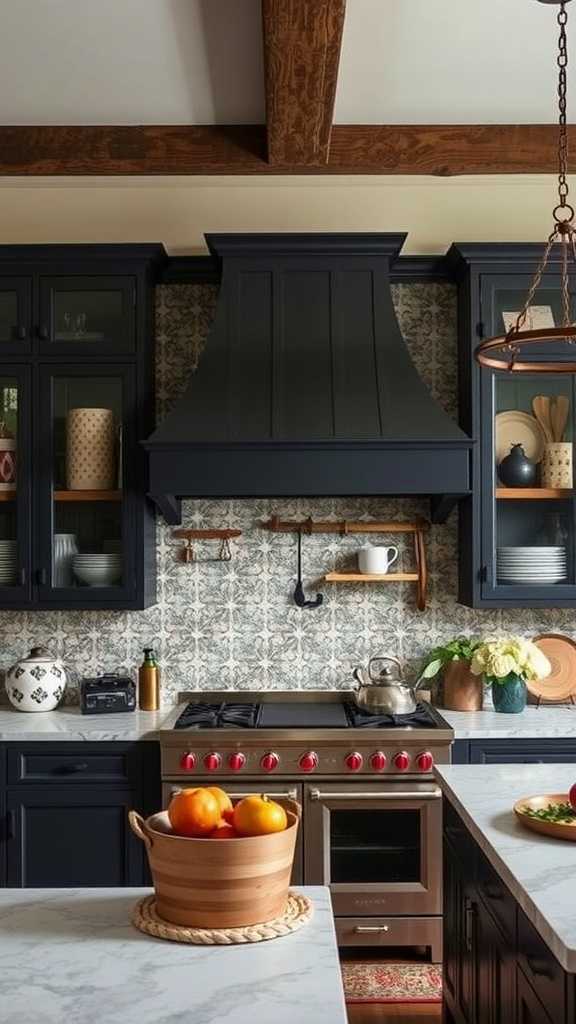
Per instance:
[[[263,125],[0,126],[0,176],[551,174],[557,144],[556,125],[335,125],[327,164],[270,164]]]

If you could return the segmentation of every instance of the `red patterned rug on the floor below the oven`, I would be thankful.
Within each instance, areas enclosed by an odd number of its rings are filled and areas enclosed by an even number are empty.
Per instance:
[[[436,964],[340,965],[346,1002],[441,1002],[442,967]]]

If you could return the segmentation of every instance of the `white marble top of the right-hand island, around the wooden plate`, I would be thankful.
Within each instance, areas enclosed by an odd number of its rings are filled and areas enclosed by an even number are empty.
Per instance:
[[[576,843],[524,828],[521,797],[568,793],[576,765],[441,765],[445,796],[566,971],[576,973]]]

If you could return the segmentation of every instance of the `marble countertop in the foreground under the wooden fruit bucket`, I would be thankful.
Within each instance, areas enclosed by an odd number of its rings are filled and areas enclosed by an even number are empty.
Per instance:
[[[130,925],[142,889],[0,891],[0,1005],[18,1024],[345,1024],[328,889],[293,935],[188,946]]]

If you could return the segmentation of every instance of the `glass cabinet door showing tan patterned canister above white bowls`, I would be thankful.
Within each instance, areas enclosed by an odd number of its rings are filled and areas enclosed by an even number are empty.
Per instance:
[[[123,459],[133,422],[132,371],[92,366],[89,373],[78,367],[43,373],[42,422],[50,424],[43,492],[50,513],[39,522],[40,595],[106,606],[134,587]]]

